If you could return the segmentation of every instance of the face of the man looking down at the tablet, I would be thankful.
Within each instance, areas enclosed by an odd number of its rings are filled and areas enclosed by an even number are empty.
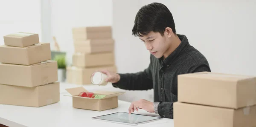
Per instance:
[[[156,58],[161,58],[170,46],[170,43],[167,42],[167,35],[162,36],[159,32],[150,32],[148,35],[140,37],[140,40],[144,42],[146,49]]]

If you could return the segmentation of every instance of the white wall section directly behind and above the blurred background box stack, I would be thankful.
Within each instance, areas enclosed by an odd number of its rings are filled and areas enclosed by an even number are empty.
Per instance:
[[[52,0],[51,12],[52,36],[67,52],[69,65],[74,52],[72,27],[112,25],[112,0]]]

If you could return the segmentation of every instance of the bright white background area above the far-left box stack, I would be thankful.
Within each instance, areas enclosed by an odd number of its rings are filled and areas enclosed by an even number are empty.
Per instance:
[[[38,33],[41,40],[41,0],[0,0],[0,45],[15,32]]]

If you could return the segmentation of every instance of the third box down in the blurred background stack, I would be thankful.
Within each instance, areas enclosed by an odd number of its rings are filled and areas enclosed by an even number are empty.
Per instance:
[[[78,67],[108,66],[115,64],[115,56],[113,52],[75,53],[72,63]]]

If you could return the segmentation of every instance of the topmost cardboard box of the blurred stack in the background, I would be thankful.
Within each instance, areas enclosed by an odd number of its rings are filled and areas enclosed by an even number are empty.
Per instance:
[[[112,38],[111,26],[73,28],[73,40],[87,40],[97,38]]]

